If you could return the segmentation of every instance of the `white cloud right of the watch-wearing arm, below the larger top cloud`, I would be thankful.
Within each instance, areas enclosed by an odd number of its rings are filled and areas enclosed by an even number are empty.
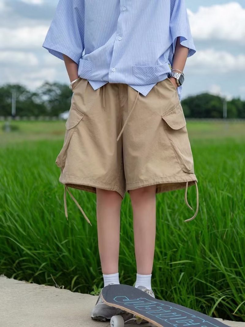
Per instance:
[[[227,51],[216,51],[214,49],[199,50],[187,60],[186,64],[190,70],[200,71],[202,74],[227,73],[239,67],[245,70],[245,55],[232,55]]]

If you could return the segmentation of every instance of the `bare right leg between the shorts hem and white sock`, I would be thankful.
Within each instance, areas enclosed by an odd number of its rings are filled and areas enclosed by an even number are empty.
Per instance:
[[[156,185],[130,190],[137,273],[152,273],[156,234]]]

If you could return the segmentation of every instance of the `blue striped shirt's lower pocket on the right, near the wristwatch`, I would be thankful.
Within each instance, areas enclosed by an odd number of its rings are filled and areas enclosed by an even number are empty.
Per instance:
[[[156,66],[133,65],[133,79],[135,85],[157,83],[165,79],[167,73],[171,73],[168,62]]]

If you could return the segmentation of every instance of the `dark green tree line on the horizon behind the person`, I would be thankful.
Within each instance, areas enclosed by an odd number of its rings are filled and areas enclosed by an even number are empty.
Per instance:
[[[0,116],[11,116],[12,95],[16,95],[16,116],[58,116],[70,109],[72,91],[67,84],[44,82],[35,91],[20,84],[0,87]],[[187,118],[222,118],[224,99],[201,93],[181,100]],[[245,101],[239,97],[226,102],[227,118],[245,118]]]

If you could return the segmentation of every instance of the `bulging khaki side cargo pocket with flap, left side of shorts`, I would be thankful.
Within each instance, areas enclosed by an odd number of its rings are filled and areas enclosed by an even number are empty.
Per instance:
[[[63,171],[65,167],[65,161],[66,161],[66,156],[67,156],[67,149],[69,146],[69,143],[71,141],[71,137],[78,125],[78,123],[83,119],[84,113],[79,112],[75,107],[71,106],[70,111],[69,111],[69,116],[66,121],[66,132],[65,132],[65,138],[64,138],[64,143],[63,147],[60,150],[55,163],[57,164],[58,167],[60,167],[61,171]]]

